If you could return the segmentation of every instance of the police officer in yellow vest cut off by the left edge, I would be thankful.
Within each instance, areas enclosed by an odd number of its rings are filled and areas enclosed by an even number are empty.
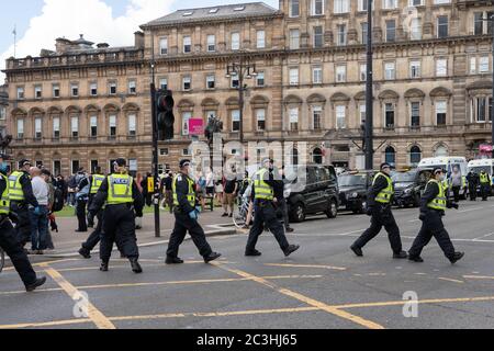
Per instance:
[[[7,160],[8,157],[0,154],[0,247],[10,257],[13,267],[24,283],[25,290],[32,292],[43,285],[46,282],[46,278],[38,279],[36,276],[10,222],[10,185],[7,178],[9,165],[5,162]]]

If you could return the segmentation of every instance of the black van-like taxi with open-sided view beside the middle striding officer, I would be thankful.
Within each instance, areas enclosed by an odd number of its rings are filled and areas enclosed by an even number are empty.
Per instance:
[[[285,192],[290,219],[295,223],[305,220],[306,215],[324,213],[328,218],[338,215],[338,182],[333,166],[306,166],[296,169],[303,172],[305,180],[294,171],[287,172]]]

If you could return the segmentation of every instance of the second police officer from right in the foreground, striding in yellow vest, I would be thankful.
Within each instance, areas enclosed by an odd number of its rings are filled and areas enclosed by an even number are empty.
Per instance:
[[[391,180],[391,166],[381,165],[381,171],[375,174],[372,186],[367,195],[367,215],[371,216],[371,226],[351,246],[351,250],[358,257],[362,257],[362,248],[372,240],[384,227],[388,231],[394,259],[406,259],[407,254],[402,250],[400,228],[396,225],[391,205],[393,203],[394,188]]]

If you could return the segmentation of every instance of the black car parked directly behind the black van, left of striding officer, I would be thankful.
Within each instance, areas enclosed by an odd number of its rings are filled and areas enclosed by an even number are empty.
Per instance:
[[[353,213],[363,213],[367,205],[367,192],[372,185],[374,171],[348,171],[339,174],[340,206]]]

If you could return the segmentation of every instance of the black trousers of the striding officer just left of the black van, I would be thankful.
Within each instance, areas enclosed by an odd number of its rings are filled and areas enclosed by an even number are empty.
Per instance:
[[[283,225],[278,219],[273,203],[271,201],[256,200],[254,202],[254,225],[247,240],[246,253],[250,253],[256,249],[257,240],[265,231],[265,226],[272,233],[281,250],[283,252],[287,251],[290,245],[284,235]]]

